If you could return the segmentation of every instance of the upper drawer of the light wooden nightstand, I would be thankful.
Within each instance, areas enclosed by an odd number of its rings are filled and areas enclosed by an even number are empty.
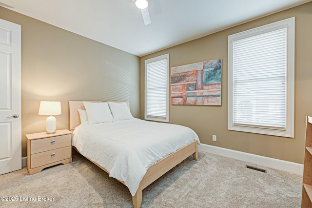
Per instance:
[[[65,134],[55,137],[32,140],[30,143],[31,154],[44,152],[52,149],[58,149],[65,146],[71,146],[72,145],[71,136],[72,136],[71,134]]]

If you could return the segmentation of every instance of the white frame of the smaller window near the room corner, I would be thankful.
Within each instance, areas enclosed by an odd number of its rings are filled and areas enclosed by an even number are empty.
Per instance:
[[[166,118],[159,118],[147,115],[147,64],[152,62],[157,62],[161,60],[167,60],[166,66]],[[145,71],[144,71],[144,119],[149,121],[166,122],[169,123],[169,53],[160,55],[151,59],[146,59],[144,61]]]

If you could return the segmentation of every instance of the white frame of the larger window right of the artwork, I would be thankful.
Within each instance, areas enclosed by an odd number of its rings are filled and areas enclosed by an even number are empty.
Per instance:
[[[273,22],[254,29],[228,36],[228,129],[234,131],[266,134],[293,138],[294,135],[294,23],[295,18]],[[287,69],[286,69],[286,128],[285,130],[265,126],[235,125],[233,121],[233,42],[263,33],[287,28]]]

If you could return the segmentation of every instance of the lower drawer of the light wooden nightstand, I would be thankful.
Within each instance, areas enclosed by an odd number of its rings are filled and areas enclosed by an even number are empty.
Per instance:
[[[59,149],[32,154],[30,159],[30,168],[44,166],[71,157],[72,146],[66,146]]]

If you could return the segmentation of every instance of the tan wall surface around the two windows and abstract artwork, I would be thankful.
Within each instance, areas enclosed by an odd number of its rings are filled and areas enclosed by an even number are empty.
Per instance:
[[[228,36],[290,17],[295,17],[294,138],[229,131],[227,129]],[[166,53],[170,54],[170,67],[222,59],[222,105],[170,104],[170,123],[193,128],[203,144],[303,163],[305,119],[306,115],[312,115],[312,2],[141,57],[141,118],[144,116],[144,60]],[[213,134],[217,135],[217,142],[212,141]]]

